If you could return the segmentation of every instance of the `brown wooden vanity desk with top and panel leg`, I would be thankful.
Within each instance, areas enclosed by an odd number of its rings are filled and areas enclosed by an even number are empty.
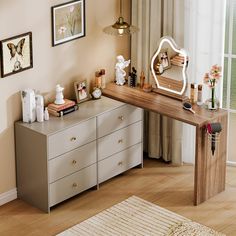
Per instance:
[[[157,93],[145,93],[139,88],[117,86],[115,83],[108,84],[103,89],[103,95],[195,126],[194,204],[198,205],[225,190],[227,111],[208,111],[194,105],[196,113],[192,114],[183,109],[181,101]],[[205,129],[207,123],[213,122],[222,125],[214,156]]]

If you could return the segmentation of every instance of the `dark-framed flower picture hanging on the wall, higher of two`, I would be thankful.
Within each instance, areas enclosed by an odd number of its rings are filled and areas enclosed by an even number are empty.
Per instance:
[[[52,46],[85,36],[85,0],[73,0],[53,6]]]

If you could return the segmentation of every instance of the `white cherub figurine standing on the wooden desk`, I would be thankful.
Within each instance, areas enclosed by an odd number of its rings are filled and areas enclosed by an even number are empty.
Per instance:
[[[130,60],[125,61],[124,57],[119,55],[117,56],[117,63],[115,66],[116,69],[116,84],[117,85],[124,85],[125,83],[125,76],[126,72],[124,69],[129,66]]]

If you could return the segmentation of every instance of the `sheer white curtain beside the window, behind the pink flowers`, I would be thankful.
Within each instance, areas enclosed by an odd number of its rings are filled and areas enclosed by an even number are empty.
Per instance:
[[[184,0],[184,48],[189,54],[189,83],[202,83],[204,74],[214,64],[224,65],[224,28],[226,1]],[[224,67],[223,67],[224,68]],[[217,84],[217,97],[222,97],[223,80]],[[210,89],[203,88],[203,99],[209,98]],[[184,124],[183,161],[194,163],[195,127]]]

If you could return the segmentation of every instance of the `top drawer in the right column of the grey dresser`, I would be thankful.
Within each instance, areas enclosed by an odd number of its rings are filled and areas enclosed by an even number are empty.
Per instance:
[[[98,138],[142,120],[142,109],[124,105],[97,117]]]

